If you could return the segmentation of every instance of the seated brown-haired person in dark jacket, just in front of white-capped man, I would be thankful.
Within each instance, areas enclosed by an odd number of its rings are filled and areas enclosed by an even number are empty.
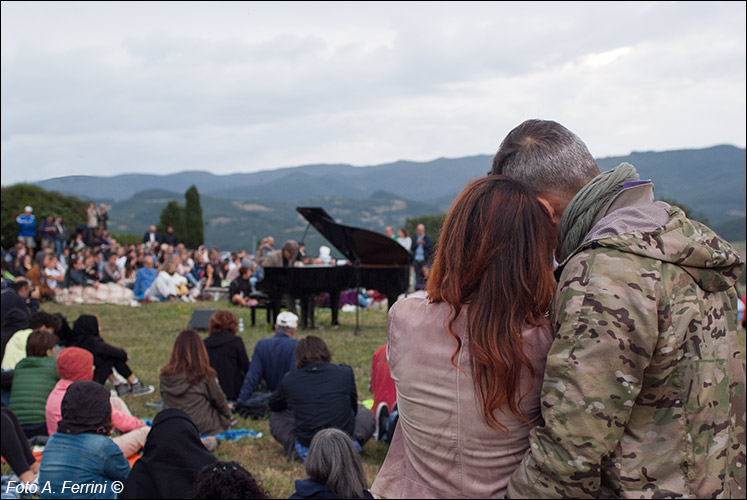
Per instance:
[[[285,374],[270,397],[274,412],[290,408],[293,426],[275,437],[286,450],[292,446],[304,460],[311,439],[321,429],[334,427],[345,431],[363,446],[374,433],[371,410],[358,404],[353,369],[332,362],[327,344],[308,336],[296,347],[296,369]]]

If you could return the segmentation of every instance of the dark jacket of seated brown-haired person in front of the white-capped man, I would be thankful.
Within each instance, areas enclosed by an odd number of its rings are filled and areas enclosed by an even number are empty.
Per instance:
[[[310,363],[285,374],[270,397],[270,410],[290,408],[298,441],[309,446],[314,435],[334,427],[353,438],[358,390],[353,369],[334,363]]]

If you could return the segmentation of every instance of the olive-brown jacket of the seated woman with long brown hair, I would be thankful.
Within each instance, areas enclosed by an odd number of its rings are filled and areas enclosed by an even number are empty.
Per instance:
[[[178,408],[194,422],[201,435],[226,432],[231,411],[217,378],[190,384],[186,373],[161,375],[163,408]]]

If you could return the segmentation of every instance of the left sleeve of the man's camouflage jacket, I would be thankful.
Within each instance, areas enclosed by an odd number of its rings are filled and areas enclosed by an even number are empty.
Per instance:
[[[609,249],[566,266],[542,385],[545,425],[531,431],[508,498],[597,496],[601,462],[622,438],[658,339],[660,273],[651,267]]]

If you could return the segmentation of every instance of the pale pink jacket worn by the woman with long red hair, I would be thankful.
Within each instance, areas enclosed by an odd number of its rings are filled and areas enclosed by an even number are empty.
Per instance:
[[[387,357],[397,387],[399,423],[371,492],[384,498],[503,498],[511,473],[529,447],[530,427],[505,407],[495,414],[508,435],[488,427],[472,381],[467,308],[454,324],[462,349],[444,328],[450,313],[411,295],[389,311]],[[534,380],[522,373],[521,403],[533,424],[542,422],[539,395],[545,358],[552,343],[549,327],[522,332]]]

